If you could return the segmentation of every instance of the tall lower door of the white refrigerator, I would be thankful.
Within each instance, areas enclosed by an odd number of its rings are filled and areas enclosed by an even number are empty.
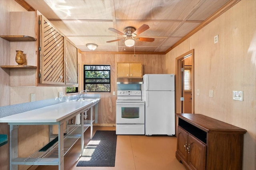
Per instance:
[[[175,135],[174,91],[146,91],[145,135]]]

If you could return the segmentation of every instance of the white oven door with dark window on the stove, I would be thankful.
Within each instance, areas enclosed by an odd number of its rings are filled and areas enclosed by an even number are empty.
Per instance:
[[[144,124],[144,122],[144,103],[116,102],[116,124]]]

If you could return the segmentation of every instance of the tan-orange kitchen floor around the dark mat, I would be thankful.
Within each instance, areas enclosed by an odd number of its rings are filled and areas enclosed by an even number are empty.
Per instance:
[[[115,130],[115,127],[93,127],[96,130]],[[90,129],[85,132],[85,145],[90,140]],[[77,167],[81,152],[78,141],[64,158],[65,170],[186,170],[175,158],[176,137],[118,135],[114,167]],[[39,166],[36,170],[58,170],[58,166]]]

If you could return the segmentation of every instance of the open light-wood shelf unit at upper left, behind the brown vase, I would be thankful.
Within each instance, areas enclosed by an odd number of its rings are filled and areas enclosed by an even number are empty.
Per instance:
[[[38,12],[10,12],[10,35],[1,35],[10,41],[10,65],[1,66],[10,71],[10,86],[36,86],[38,75]],[[26,62],[17,66],[16,51],[23,51]]]

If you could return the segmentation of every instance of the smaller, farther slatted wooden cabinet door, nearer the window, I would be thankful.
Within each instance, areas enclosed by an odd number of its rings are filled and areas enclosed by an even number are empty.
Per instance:
[[[78,84],[77,48],[66,40],[66,84]]]

